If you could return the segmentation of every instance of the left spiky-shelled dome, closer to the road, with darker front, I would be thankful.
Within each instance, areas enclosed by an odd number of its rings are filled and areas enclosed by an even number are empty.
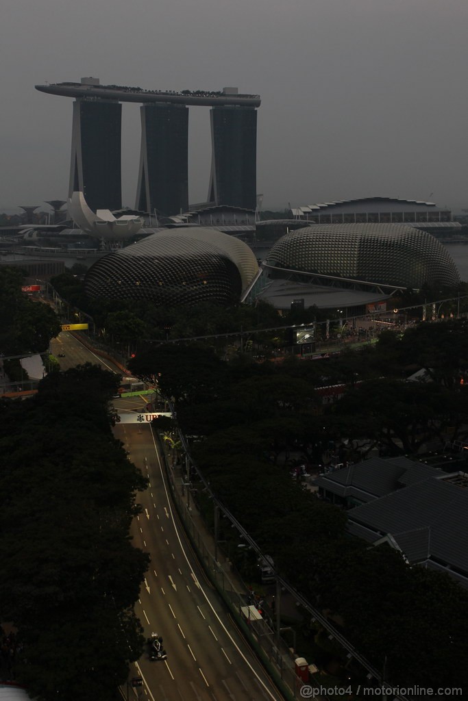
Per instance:
[[[89,297],[145,299],[156,306],[222,306],[245,299],[260,270],[243,241],[217,229],[161,229],[99,259],[85,278]]]

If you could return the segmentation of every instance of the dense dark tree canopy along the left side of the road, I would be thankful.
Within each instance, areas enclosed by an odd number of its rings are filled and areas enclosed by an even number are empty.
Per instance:
[[[129,538],[145,479],[110,430],[116,376],[86,365],[0,405],[0,620],[39,701],[114,699],[138,659],[147,555]]]

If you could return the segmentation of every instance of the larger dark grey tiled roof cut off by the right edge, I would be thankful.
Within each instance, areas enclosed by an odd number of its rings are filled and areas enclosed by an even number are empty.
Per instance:
[[[432,559],[468,576],[468,489],[428,477],[349,510],[350,524],[391,534],[410,562]],[[374,538],[366,538],[374,541]]]

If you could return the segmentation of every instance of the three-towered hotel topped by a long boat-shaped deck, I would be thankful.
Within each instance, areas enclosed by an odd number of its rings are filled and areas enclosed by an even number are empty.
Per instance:
[[[199,105],[211,107],[208,203],[255,210],[259,95],[241,95],[237,88],[176,93],[103,86],[97,78],[35,87],[42,93],[75,98],[69,196],[82,191],[94,212],[122,206],[122,102],[141,104],[136,209],[166,216],[189,210],[189,106]]]

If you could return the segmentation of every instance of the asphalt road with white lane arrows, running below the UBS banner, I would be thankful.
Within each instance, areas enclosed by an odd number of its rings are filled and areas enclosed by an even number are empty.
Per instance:
[[[149,479],[138,496],[142,515],[132,535],[152,562],[135,611],[145,637],[159,634],[168,653],[159,662],[145,653],[132,665],[131,676],[142,676],[144,686],[130,687],[129,698],[140,693],[152,701],[280,701],[197,564],[173,512],[150,426],[121,424],[114,434]]]

